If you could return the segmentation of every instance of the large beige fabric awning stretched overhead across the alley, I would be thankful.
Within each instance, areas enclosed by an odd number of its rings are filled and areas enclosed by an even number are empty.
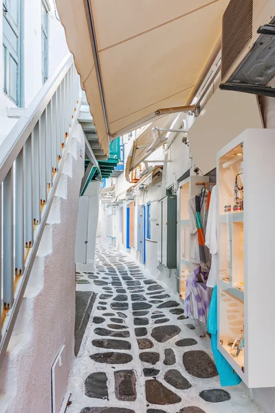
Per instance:
[[[100,146],[185,105],[229,0],[56,0]]]

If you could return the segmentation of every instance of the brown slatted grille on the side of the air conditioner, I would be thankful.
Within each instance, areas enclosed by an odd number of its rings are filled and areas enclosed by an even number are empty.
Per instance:
[[[253,0],[231,0],[223,14],[221,78],[252,39]]]

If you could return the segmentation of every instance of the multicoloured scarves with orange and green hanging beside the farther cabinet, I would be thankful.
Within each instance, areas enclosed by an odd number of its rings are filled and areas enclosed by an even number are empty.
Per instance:
[[[207,222],[207,198],[203,199],[202,205],[200,205],[199,197],[195,196],[188,201],[188,213],[190,222],[190,262],[193,264],[204,264],[203,260],[208,262],[210,260],[210,254],[208,248],[203,246],[199,248],[199,239],[201,243],[204,242],[204,231],[206,229]],[[200,207],[200,212],[197,209]],[[199,225],[199,231],[198,231]]]

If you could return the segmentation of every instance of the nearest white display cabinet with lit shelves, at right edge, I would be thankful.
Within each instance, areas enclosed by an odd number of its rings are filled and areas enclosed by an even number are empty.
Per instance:
[[[274,387],[274,129],[217,154],[218,348],[249,388]]]

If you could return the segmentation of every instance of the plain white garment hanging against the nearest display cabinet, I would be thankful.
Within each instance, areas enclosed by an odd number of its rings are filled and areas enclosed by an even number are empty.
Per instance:
[[[206,246],[211,254],[211,268],[208,275],[207,286],[214,287],[219,277],[219,256],[217,242],[217,185],[212,188],[208,220],[206,224]]]

